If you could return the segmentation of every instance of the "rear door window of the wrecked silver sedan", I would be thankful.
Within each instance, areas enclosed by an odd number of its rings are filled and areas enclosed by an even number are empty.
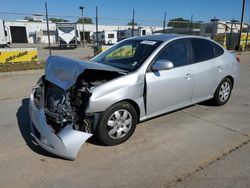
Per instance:
[[[214,58],[214,47],[209,40],[191,39],[193,47],[193,61],[198,63]]]

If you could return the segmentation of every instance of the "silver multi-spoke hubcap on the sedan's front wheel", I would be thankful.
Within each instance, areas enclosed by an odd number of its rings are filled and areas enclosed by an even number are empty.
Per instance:
[[[128,133],[131,125],[131,114],[127,110],[117,110],[108,120],[108,135],[113,139],[120,139]]]

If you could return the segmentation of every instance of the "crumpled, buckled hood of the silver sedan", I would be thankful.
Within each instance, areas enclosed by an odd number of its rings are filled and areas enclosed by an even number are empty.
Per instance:
[[[63,90],[73,86],[85,69],[124,72],[108,65],[75,60],[63,56],[50,56],[45,66],[45,79]]]

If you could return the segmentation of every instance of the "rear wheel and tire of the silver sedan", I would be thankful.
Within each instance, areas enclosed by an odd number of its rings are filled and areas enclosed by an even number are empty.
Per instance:
[[[227,103],[232,93],[233,85],[229,78],[224,78],[218,85],[212,102],[216,106],[222,106]]]

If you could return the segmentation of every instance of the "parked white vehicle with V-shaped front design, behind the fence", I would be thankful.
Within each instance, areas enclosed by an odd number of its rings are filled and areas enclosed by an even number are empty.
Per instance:
[[[75,23],[56,23],[57,44],[59,47],[77,47],[77,29]]]

